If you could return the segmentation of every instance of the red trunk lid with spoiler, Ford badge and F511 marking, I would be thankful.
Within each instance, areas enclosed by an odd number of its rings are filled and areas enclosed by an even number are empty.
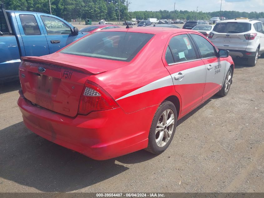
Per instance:
[[[22,57],[22,60],[19,77],[25,98],[34,105],[71,117],[77,115],[87,78],[106,71],[60,58]]]

